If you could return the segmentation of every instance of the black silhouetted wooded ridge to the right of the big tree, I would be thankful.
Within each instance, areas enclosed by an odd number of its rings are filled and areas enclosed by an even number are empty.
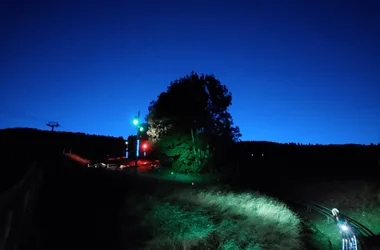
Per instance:
[[[239,181],[259,178],[279,179],[354,179],[378,178],[378,145],[302,145],[244,141],[230,154],[231,176]]]

